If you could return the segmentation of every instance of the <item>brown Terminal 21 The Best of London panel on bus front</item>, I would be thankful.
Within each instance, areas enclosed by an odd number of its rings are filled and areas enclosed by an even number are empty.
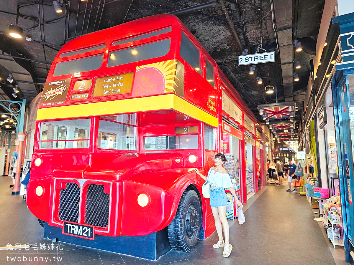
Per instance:
[[[68,95],[71,78],[46,82],[38,107],[54,107],[63,105]]]

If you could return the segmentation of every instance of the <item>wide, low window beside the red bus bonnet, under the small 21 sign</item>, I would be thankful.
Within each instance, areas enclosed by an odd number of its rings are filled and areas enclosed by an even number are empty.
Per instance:
[[[198,135],[169,135],[145,137],[145,151],[198,149]]]

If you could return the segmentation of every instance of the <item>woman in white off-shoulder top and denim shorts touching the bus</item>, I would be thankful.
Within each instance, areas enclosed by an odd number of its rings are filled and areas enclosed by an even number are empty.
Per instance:
[[[202,175],[198,169],[194,171],[204,180],[208,180],[210,184],[210,206],[215,219],[215,227],[219,236],[219,241],[213,246],[213,248],[224,247],[223,257],[229,257],[232,251],[232,245],[229,244],[229,223],[226,219],[226,194],[224,188],[228,188],[236,203],[241,208],[243,205],[238,200],[229,174],[223,167],[226,157],[224,154],[216,154],[214,157],[215,166],[211,167],[208,172],[208,176]],[[221,227],[221,223],[222,227]],[[222,236],[222,228],[224,229],[225,242]]]

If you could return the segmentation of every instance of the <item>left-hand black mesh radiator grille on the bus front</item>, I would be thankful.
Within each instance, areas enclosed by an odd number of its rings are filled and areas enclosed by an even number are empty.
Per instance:
[[[79,223],[80,188],[78,184],[68,182],[60,191],[59,219]]]

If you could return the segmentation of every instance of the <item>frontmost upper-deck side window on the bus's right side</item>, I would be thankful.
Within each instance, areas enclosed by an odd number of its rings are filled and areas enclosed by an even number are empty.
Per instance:
[[[200,66],[200,51],[192,41],[190,41],[185,35],[182,33],[181,38],[181,51],[179,55],[190,65],[192,66],[198,73],[201,74],[201,66]]]

